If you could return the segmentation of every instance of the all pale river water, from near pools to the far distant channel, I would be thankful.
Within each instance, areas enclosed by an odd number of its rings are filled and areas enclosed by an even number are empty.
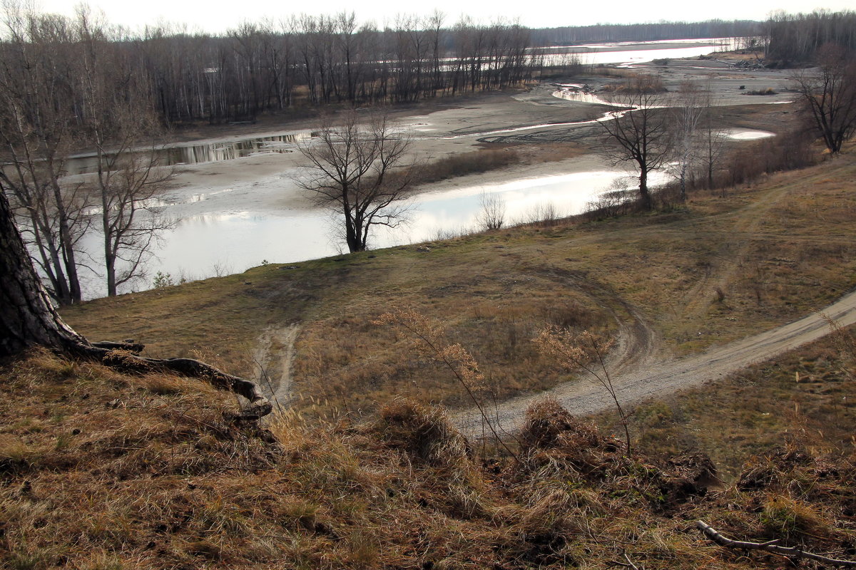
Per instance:
[[[701,55],[713,49],[716,49],[715,43],[702,41],[693,48],[645,50],[643,46],[641,50],[591,51],[586,56],[597,56],[597,62],[637,62],[650,61],[655,57]],[[692,53],[686,50],[692,50]],[[591,122],[593,120],[579,124]],[[514,130],[528,128],[534,126]],[[295,144],[308,136],[308,132],[288,132],[227,142],[200,141],[165,149],[162,157],[170,164],[249,160],[247,157],[294,152]],[[748,138],[752,135],[743,136]],[[75,172],[91,170],[88,157],[76,156],[74,160],[77,161]],[[537,219],[538,214],[543,214],[546,209],[558,215],[578,214],[599,195],[614,189],[622,179],[627,179],[627,173],[601,167],[586,172],[425,192],[408,204],[409,223],[395,230],[376,232],[371,246],[383,248],[419,243],[477,230],[483,195],[502,198],[507,223]],[[661,181],[664,179],[664,176],[660,177]],[[652,182],[657,183],[657,178]],[[162,215],[176,220],[175,229],[165,232],[154,248],[155,256],[146,266],[148,277],[130,289],[149,288],[152,275],[158,271],[169,273],[174,280],[182,277],[202,279],[215,274],[241,272],[265,261],[289,263],[342,253],[343,240],[336,239],[336,228],[341,225],[339,220],[318,209],[262,206],[255,195],[263,187],[265,183],[256,181],[246,182],[241,187],[236,185],[212,191],[191,189],[182,191],[179,197],[165,200]],[[85,239],[83,247],[97,265],[100,238],[93,232]],[[86,291],[87,297],[104,295],[102,279],[90,276],[86,279]]]

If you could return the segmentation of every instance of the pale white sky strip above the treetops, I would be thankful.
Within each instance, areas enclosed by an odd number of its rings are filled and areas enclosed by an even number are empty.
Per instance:
[[[71,15],[77,0],[35,0],[47,12]],[[717,0],[716,2],[666,0],[640,3],[629,0],[592,2],[591,0],[542,0],[537,4],[526,0],[434,0],[432,3],[377,0],[346,2],[345,0],[314,0],[294,3],[288,0],[92,0],[92,8],[102,9],[111,23],[130,27],[156,24],[158,21],[187,24],[188,31],[223,32],[241,21],[278,20],[288,15],[336,14],[353,10],[360,21],[375,21],[382,26],[395,15],[427,15],[439,9],[451,24],[463,15],[479,21],[497,17],[519,19],[530,27],[583,26],[600,22],[632,23],[646,21],[763,20],[770,12],[811,12],[823,8],[852,9],[853,0],[780,0],[767,2],[751,0]]]

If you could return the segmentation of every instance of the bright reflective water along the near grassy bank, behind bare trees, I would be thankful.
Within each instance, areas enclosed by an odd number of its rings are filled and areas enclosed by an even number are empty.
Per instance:
[[[595,171],[421,194],[413,200],[409,224],[395,231],[377,232],[371,245],[383,248],[475,231],[482,193],[502,197],[507,224],[532,220],[537,211],[545,209],[557,215],[577,214],[624,176],[615,171]],[[164,214],[169,214],[169,208]],[[342,253],[342,245],[331,238],[338,226],[338,220],[321,210],[265,213],[239,209],[189,216],[159,240],[148,270],[150,276],[161,271],[173,279],[202,279],[241,272],[265,260],[290,263],[333,256]],[[98,252],[99,239],[94,232],[88,234],[86,250]],[[93,257],[97,260],[98,254],[93,253]],[[137,290],[150,286],[150,279],[135,285]],[[87,297],[102,295],[103,285],[92,281]]]

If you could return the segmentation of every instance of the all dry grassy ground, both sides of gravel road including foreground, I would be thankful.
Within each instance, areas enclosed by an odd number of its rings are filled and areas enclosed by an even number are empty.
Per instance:
[[[611,414],[538,403],[513,457],[426,405],[461,394],[411,338],[373,321],[395,307],[427,315],[498,397],[567,378],[530,342],[548,324],[609,336],[634,320],[663,355],[702,350],[853,287],[854,174],[842,156],[669,212],[268,265],[67,309],[91,338],[134,337],[247,375],[261,332],[299,323],[303,398],[263,429],[236,423],[235,398],[195,380],[41,351],[0,364],[0,564],[787,564],[710,543],[698,519],[853,559],[853,331],[645,403],[629,456]]]

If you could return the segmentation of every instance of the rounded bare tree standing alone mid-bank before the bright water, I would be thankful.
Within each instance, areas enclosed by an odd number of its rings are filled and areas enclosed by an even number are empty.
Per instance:
[[[348,250],[366,250],[373,226],[397,227],[413,179],[408,163],[411,139],[383,114],[361,117],[349,111],[336,124],[325,122],[318,140],[300,147],[308,161],[298,180],[318,206],[342,215]]]

